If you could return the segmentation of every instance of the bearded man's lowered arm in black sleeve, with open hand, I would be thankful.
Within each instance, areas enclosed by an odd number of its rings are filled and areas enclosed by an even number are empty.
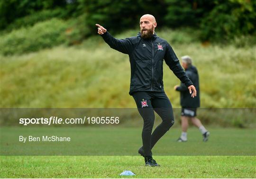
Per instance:
[[[180,79],[182,83],[189,89],[190,94],[192,93],[192,97],[196,96],[196,89],[192,83],[192,81],[188,78],[186,73],[184,72],[179,59],[174,53],[173,48],[166,42],[166,51],[165,51],[165,63],[169,66],[169,68],[174,72],[174,74]]]

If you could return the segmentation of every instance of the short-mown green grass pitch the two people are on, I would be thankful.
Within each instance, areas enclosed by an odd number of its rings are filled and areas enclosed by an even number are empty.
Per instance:
[[[140,128],[2,127],[2,154],[15,155],[24,151],[23,155],[32,153],[34,156],[1,156],[0,177],[120,178],[123,170],[131,170],[136,174],[134,178],[256,178],[255,130],[209,130],[211,135],[207,143],[202,142],[196,128],[189,129],[187,143],[177,143],[180,128],[172,128],[153,149],[154,158],[161,167],[148,168],[143,158],[137,156],[137,148],[141,145]],[[16,142],[19,134],[70,135],[75,139],[72,146],[66,143],[20,144]],[[70,153],[79,156],[35,156],[42,150],[46,155]]]

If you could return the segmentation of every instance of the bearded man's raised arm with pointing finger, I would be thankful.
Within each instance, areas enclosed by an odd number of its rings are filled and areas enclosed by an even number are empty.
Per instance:
[[[102,36],[104,41],[110,45],[111,48],[118,50],[121,53],[129,54],[133,49],[132,37],[126,39],[117,39],[110,35],[106,28],[99,24],[95,24],[98,27],[98,34]]]

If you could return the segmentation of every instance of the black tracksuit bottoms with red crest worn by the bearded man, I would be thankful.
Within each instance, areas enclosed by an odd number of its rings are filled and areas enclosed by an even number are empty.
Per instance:
[[[174,125],[173,107],[165,92],[137,91],[132,96],[144,121],[142,130],[144,153],[145,156],[152,156],[151,149],[155,143]],[[152,133],[154,111],[162,118],[162,123]]]

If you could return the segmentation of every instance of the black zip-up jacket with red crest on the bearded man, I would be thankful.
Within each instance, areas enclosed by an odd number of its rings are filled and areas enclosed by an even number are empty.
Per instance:
[[[186,76],[171,45],[156,34],[151,39],[143,39],[140,33],[126,39],[116,39],[108,31],[101,36],[111,48],[129,55],[131,64],[130,95],[135,91],[164,91],[164,60],[187,87],[193,84]]]

